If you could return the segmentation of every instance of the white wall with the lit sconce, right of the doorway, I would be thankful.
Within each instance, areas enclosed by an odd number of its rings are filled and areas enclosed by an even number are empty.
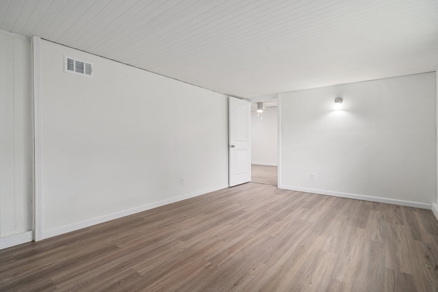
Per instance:
[[[343,111],[332,110],[336,96]],[[435,73],[288,92],[280,103],[280,187],[425,208],[437,198]]]

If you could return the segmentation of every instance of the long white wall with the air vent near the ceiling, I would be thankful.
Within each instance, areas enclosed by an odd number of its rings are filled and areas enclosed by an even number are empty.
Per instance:
[[[43,237],[227,187],[226,96],[44,40],[40,57]]]

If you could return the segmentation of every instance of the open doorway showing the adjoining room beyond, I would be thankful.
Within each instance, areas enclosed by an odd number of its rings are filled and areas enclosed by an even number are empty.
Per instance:
[[[278,185],[277,99],[251,103],[251,182]]]

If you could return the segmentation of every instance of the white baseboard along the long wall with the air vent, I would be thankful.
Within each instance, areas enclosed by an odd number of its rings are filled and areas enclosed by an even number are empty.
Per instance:
[[[42,233],[42,239],[47,239],[49,237],[54,237],[54,236],[57,236],[57,235],[62,235],[64,233],[69,233],[69,232],[72,232],[72,231],[75,231],[75,230],[79,230],[81,228],[86,228],[86,227],[90,227],[90,226],[93,226],[93,225],[96,225],[96,224],[101,224],[103,222],[107,222],[107,221],[110,221],[110,220],[115,220],[115,219],[118,219],[118,218],[121,218],[121,217],[133,215],[133,214],[140,213],[140,212],[143,212],[143,211],[147,211],[147,210],[150,210],[150,209],[153,209],[153,208],[161,207],[161,206],[164,206],[166,204],[172,204],[174,202],[179,202],[181,200],[186,200],[186,199],[189,199],[189,198],[194,198],[196,196],[202,196],[202,195],[211,193],[212,191],[218,191],[220,189],[225,189],[227,187],[228,187],[228,185],[223,185],[223,186],[220,186],[220,187],[212,187],[210,189],[204,189],[202,191],[196,191],[196,192],[194,192],[192,194],[185,194],[183,196],[177,196],[177,197],[170,198],[170,199],[167,199],[167,200],[162,200],[162,201],[159,201],[159,202],[153,202],[151,204],[146,204],[146,205],[143,205],[143,206],[140,206],[140,207],[123,210],[123,211],[120,211],[120,212],[112,213],[112,214],[109,214],[109,215],[104,215],[104,216],[101,216],[101,217],[96,217],[96,218],[93,218],[91,220],[85,220],[85,221],[82,221],[82,222],[78,222],[76,224],[71,224],[71,225],[64,226],[64,227],[61,227],[61,228],[57,228],[57,229],[54,229],[54,230],[44,231]]]

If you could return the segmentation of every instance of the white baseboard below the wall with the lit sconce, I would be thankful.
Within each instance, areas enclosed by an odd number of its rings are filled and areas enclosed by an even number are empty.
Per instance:
[[[364,201],[370,201],[370,202],[379,202],[379,203],[385,203],[385,204],[397,204],[400,206],[415,207],[415,208],[421,208],[421,209],[431,209],[432,208],[431,204],[428,204],[428,203],[396,200],[396,199],[373,197],[373,196],[364,196],[364,195],[358,195],[358,194],[348,194],[348,193],[342,193],[339,191],[325,191],[323,189],[309,189],[307,187],[293,187],[290,185],[279,185],[279,189],[289,189],[290,191],[303,191],[305,193],[312,193],[312,194],[326,195],[326,196],[335,196],[335,197],[349,198],[349,199],[356,199],[356,200],[364,200]],[[437,214],[435,214],[435,216],[437,216]]]

